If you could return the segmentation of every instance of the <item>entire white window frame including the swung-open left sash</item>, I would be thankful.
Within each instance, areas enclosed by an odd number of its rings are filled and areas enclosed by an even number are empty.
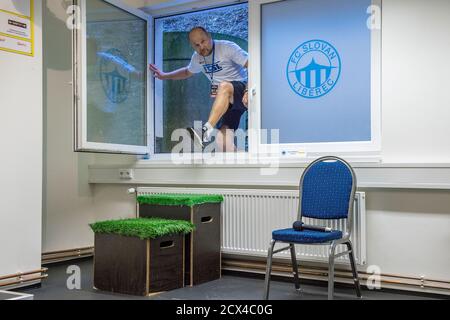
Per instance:
[[[106,143],[94,143],[87,141],[87,83],[86,83],[86,1],[74,0],[74,5],[79,5],[81,10],[80,29],[73,29],[73,105],[74,105],[74,151],[94,152],[94,153],[116,153],[147,155],[148,157],[138,157],[138,160],[170,161],[172,154],[155,153],[155,111],[156,111],[156,84],[151,72],[147,69],[147,145],[127,146]],[[156,11],[143,12],[126,5],[120,0],[102,0],[119,9],[125,10],[147,23],[147,65],[155,61],[156,28],[155,19],[195,13],[204,10],[217,9],[230,5],[243,4],[247,1],[203,1],[196,7],[188,5],[175,8],[169,6],[166,9],[159,8]],[[372,84],[371,84],[371,131],[372,140],[370,142],[334,142],[334,143],[306,143],[306,144],[279,144],[269,145],[262,143],[261,134],[261,12],[262,5],[267,3],[280,2],[284,0],[252,0],[248,1],[249,11],[249,56],[248,68],[249,76],[249,109],[248,128],[254,134],[248,137],[248,152],[240,152],[239,157],[255,158],[280,158],[289,161],[298,161],[299,158],[317,157],[324,154],[334,154],[364,161],[380,161],[381,159],[381,37],[382,30],[374,29],[371,34],[372,41]],[[372,0],[372,5],[378,6],[382,10],[382,0]],[[155,13],[155,14],[154,14]],[[368,16],[369,18],[369,16]],[[381,19],[381,13],[380,13]],[[202,154],[187,154],[191,159],[201,159]]]

